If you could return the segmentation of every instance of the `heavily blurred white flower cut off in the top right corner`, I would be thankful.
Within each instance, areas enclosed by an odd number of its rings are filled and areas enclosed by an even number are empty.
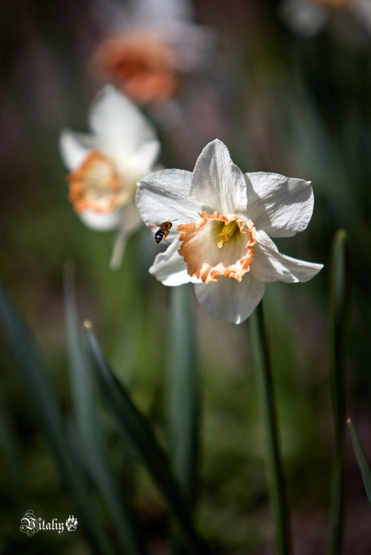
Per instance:
[[[281,12],[293,30],[307,37],[330,25],[334,33],[354,43],[370,40],[370,0],[284,0]]]

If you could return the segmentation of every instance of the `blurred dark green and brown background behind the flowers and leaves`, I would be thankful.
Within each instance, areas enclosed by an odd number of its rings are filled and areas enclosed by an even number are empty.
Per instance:
[[[87,130],[89,103],[104,84],[89,60],[105,32],[105,2],[5,0],[0,9],[1,277],[68,417],[62,268],[73,261],[81,319],[92,319],[107,359],[166,438],[169,291],[147,273],[153,238],[138,231],[122,267],[112,272],[114,234],[87,229],[72,211],[58,152],[62,127]],[[327,542],[334,447],[326,265],[338,228],[349,235],[353,272],[347,414],[371,455],[371,39],[359,44],[331,27],[304,37],[285,24],[279,3],[268,0],[195,0],[193,10],[195,21],[216,33],[215,51],[209,67],[184,77],[176,98],[183,125],[169,130],[161,125],[166,108],[146,109],[162,139],[161,163],[192,169],[203,146],[218,137],[243,171],[273,171],[313,184],[309,228],[277,245],[285,254],[324,263],[325,270],[305,284],[268,284],[264,308],[294,543],[300,555],[318,554]],[[270,553],[249,322],[223,324],[197,303],[194,308],[203,403],[198,525],[216,553]],[[5,342],[1,346],[0,553],[90,553],[82,530],[33,538],[19,531],[27,509],[63,520],[76,508]],[[111,433],[110,456],[123,476],[126,446]],[[153,553],[166,553],[164,503],[142,470],[136,488]],[[109,529],[103,509],[102,519]],[[343,552],[367,554],[370,545],[370,506],[348,445]]]

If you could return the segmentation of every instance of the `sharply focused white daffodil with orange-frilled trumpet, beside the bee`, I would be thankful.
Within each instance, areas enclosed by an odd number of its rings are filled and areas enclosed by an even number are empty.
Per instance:
[[[306,229],[313,212],[310,182],[243,174],[221,141],[202,150],[193,172],[146,175],[136,201],[146,224],[179,223],[150,273],[164,285],[195,283],[198,301],[217,319],[241,324],[261,301],[266,282],[308,281],[323,267],[281,254],[271,239]]]

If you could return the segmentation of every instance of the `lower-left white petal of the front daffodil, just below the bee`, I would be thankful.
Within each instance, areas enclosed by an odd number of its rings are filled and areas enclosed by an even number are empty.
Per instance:
[[[180,241],[178,238],[166,249],[165,252],[157,254],[155,262],[150,267],[149,272],[156,279],[162,281],[164,285],[182,285],[183,283],[200,283],[201,280],[191,277],[187,273],[186,264],[178,249]]]

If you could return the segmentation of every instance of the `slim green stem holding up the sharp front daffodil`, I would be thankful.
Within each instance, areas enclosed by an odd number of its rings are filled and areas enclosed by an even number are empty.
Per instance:
[[[288,504],[286,488],[279,449],[277,428],[277,410],[273,389],[272,368],[268,339],[264,325],[262,303],[255,310],[254,315],[254,355],[257,362],[257,388],[261,403],[261,412],[266,430],[268,484],[270,488],[270,503],[275,520],[275,536],[277,554],[291,553],[291,537],[288,519]]]

